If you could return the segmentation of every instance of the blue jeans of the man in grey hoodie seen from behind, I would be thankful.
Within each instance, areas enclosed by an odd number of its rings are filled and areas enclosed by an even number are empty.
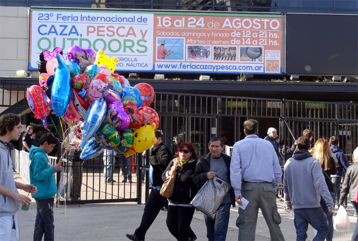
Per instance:
[[[324,240],[328,233],[328,225],[321,207],[299,208],[294,211],[294,227],[296,228],[296,240],[307,239],[308,224],[317,230],[313,240]]]

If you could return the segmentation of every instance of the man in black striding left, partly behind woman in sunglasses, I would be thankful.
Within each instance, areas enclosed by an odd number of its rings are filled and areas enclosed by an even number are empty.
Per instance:
[[[150,225],[154,222],[159,211],[164,206],[168,208],[168,200],[160,195],[160,189],[164,181],[161,178],[163,171],[168,166],[173,156],[170,150],[163,143],[163,136],[160,131],[155,131],[157,142],[153,146],[153,151],[150,155],[150,179],[152,183],[152,190],[150,191],[148,201],[144,207],[142,221],[139,227],[134,231],[134,234],[126,234],[131,240],[144,240],[145,234]],[[191,240],[195,240],[196,236],[190,229]]]

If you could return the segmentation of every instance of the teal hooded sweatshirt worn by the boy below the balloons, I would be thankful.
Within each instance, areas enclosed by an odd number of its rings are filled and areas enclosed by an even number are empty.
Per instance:
[[[32,195],[35,200],[53,198],[57,193],[54,170],[46,152],[32,146],[30,156],[30,183],[37,187],[37,193]]]

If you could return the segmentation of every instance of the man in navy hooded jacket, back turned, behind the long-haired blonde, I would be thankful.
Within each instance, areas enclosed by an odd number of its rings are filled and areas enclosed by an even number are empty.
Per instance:
[[[332,156],[334,160],[338,163],[337,173],[335,175],[331,175],[332,183],[336,186],[336,204],[339,206],[339,196],[340,196],[340,182],[342,180],[343,169],[347,170],[348,162],[345,158],[344,152],[339,149],[339,138],[336,136],[332,136],[329,138],[329,145]]]

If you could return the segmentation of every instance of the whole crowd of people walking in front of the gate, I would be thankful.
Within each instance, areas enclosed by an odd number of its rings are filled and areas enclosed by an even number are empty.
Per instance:
[[[349,193],[354,209],[358,206],[354,201],[358,147],[353,151],[354,164],[348,166],[344,153],[339,149],[337,137],[331,137],[329,142],[320,138],[311,148],[313,132],[305,130],[303,136],[285,149],[284,154],[292,154],[292,157],[283,157],[282,163],[277,130],[270,128],[267,138],[261,139],[258,125],[255,119],[244,122],[246,137],[234,144],[231,156],[223,153],[222,139],[213,137],[208,143],[209,153],[201,158],[198,158],[189,142],[181,143],[173,156],[163,143],[163,134],[155,131],[157,142],[149,158],[152,189],[139,227],[126,236],[131,240],[145,240],[146,232],[165,207],[166,226],[172,236],[177,240],[196,240],[197,236],[191,228],[195,212],[191,202],[200,188],[215,177],[228,183],[230,188],[220,201],[214,218],[204,214],[208,240],[226,239],[230,207],[236,204],[239,207],[236,220],[238,240],[255,240],[259,209],[269,228],[271,240],[284,240],[276,204],[279,201],[277,188],[283,177],[285,209],[294,216],[297,240],[306,240],[309,224],[315,229],[314,240],[332,240],[334,205],[343,205]],[[53,205],[57,192],[54,174],[63,167],[61,162],[51,165],[47,154],[58,140],[46,133],[38,147],[32,145],[29,148],[30,184],[26,185],[15,182],[10,154],[14,149],[11,141],[17,141],[21,134],[18,115],[0,116],[0,240],[19,240],[16,212],[20,204],[26,207],[31,199],[19,194],[17,189],[31,193],[36,201],[34,240],[42,240],[43,236],[44,240],[53,240]],[[27,134],[32,134],[30,129]],[[114,154],[107,152],[105,156],[113,158]],[[111,162],[112,159],[106,159],[107,166],[111,166]],[[342,176],[343,169],[347,172],[339,192],[336,182]],[[165,198],[160,191],[170,176],[174,176],[173,192],[169,198]],[[104,169],[104,182],[113,182],[110,169]],[[352,240],[357,238],[358,222]]]

